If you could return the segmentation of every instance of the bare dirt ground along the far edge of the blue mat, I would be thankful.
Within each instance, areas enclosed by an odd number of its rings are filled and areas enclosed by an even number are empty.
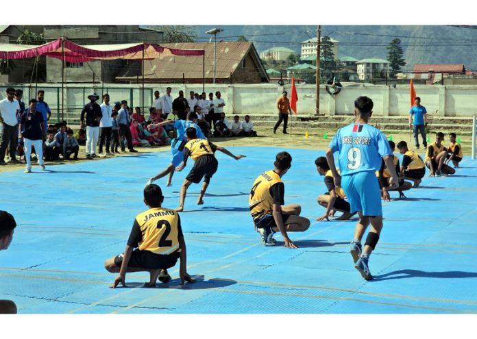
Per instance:
[[[297,149],[319,149],[323,150],[328,147],[332,137],[334,136],[336,131],[310,131],[308,134],[308,138],[300,133],[297,134],[293,132],[293,129],[289,130],[290,134],[282,134],[277,131],[277,134],[273,134],[272,131],[265,130],[265,129],[257,129],[257,137],[254,138],[243,138],[243,137],[236,137],[236,138],[212,138],[211,141],[217,143],[217,145],[221,145],[223,147],[228,146],[256,146],[256,147],[284,147],[284,148],[297,148]],[[327,138],[324,138],[324,134],[326,133]],[[389,138],[389,136],[387,136]],[[403,131],[400,134],[393,134],[392,135],[393,141],[397,144],[401,140],[404,140],[408,143],[408,147],[411,150],[414,149],[413,140],[411,139],[411,135],[409,132]],[[470,138],[470,137],[469,137]],[[431,142],[434,139],[434,135],[430,136]],[[469,156],[471,152],[471,144],[472,141],[466,142],[463,140],[461,145],[463,146],[464,155]],[[444,145],[448,145],[448,140],[445,140]],[[160,151],[170,151],[170,147],[134,147],[140,153],[146,152],[160,152]],[[424,150],[421,148],[419,149],[419,153],[424,153]],[[397,152],[397,150],[396,150]],[[116,156],[130,156],[136,153],[121,153],[120,155]],[[45,162],[46,166],[54,166],[58,164],[73,164],[75,162],[82,162],[82,161],[101,161],[103,158],[96,158],[95,160],[86,160],[86,147],[80,146],[79,147],[79,155],[78,160],[62,160],[56,162]],[[106,158],[106,157],[105,157]],[[5,156],[5,161],[8,162],[8,156]],[[32,161],[32,165],[36,166],[36,161]],[[6,166],[0,166],[0,173],[6,171],[14,171],[16,169],[25,168],[25,164],[7,164]]]

